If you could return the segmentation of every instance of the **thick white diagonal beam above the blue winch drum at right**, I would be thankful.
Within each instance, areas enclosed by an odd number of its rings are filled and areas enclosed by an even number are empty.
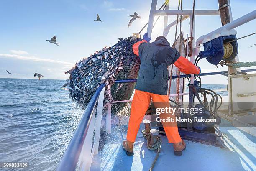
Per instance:
[[[197,39],[196,45],[199,46],[200,44],[206,43],[220,36],[235,35],[237,32],[234,30],[234,28],[241,26],[245,23],[248,23],[249,21],[254,20],[255,18],[256,18],[256,10],[236,20],[233,20],[232,22],[216,29],[215,31],[208,33],[207,35],[201,36],[200,38]]]

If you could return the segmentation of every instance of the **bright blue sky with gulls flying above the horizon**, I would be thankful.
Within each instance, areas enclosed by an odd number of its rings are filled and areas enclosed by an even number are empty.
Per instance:
[[[158,0],[157,8],[164,3]],[[233,20],[255,10],[255,0],[230,0]],[[177,9],[178,0],[170,0],[169,9]],[[113,46],[118,38],[138,33],[148,22],[151,0],[0,0],[0,78],[68,79],[63,74],[74,64],[105,46]],[[192,0],[183,0],[182,9],[192,9]],[[195,9],[218,9],[218,0],[196,0]],[[127,28],[129,15],[136,11],[141,20]],[[96,15],[103,22],[95,22]],[[163,34],[164,17],[153,28],[152,40]],[[155,17],[156,20],[156,17]],[[176,17],[169,16],[169,23]],[[220,16],[196,16],[196,38],[221,26]],[[255,32],[256,20],[236,28],[237,37]],[[178,28],[179,30],[179,28]],[[184,35],[189,33],[189,19],[182,22]],[[146,28],[143,33],[146,32]],[[175,27],[167,36],[174,42]],[[57,37],[59,46],[47,39]],[[238,40],[239,60],[255,61],[256,36]],[[201,46],[201,51],[203,47]],[[201,59],[202,72],[227,71],[227,67],[213,66]],[[256,67],[243,68],[255,69]],[[8,75],[5,70],[13,73]],[[203,84],[227,84],[225,76],[202,77]]]

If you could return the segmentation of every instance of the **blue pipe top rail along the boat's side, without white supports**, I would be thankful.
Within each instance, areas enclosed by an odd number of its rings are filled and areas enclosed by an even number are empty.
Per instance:
[[[256,71],[256,69],[246,69],[241,70],[242,72],[253,72]],[[206,75],[223,75],[227,74],[228,71],[223,72],[209,72],[209,73],[201,73],[200,76],[206,76]],[[190,74],[184,74],[180,75],[181,78],[184,77],[191,77]],[[178,76],[174,75],[172,76],[172,79],[177,79]],[[127,83],[127,82],[136,82],[137,79],[125,79],[125,80],[116,80],[115,83]],[[96,92],[93,94],[92,99],[88,103],[84,114],[82,116],[82,119],[80,120],[79,125],[77,126],[77,130],[75,131],[66,152],[64,153],[64,156],[61,158],[61,161],[56,169],[56,171],[74,171],[77,167],[77,162],[79,160],[79,156],[82,150],[82,145],[84,144],[84,139],[87,135],[87,131],[90,125],[90,121],[92,119],[92,111],[93,108],[97,102],[97,99],[100,95],[100,92],[105,87],[106,84],[101,84],[100,87],[96,90]]]

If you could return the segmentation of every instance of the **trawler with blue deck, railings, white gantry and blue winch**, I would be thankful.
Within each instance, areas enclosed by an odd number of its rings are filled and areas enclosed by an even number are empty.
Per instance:
[[[182,10],[181,8],[169,10],[169,0],[166,1],[163,9],[157,10],[157,0],[152,0],[151,3],[147,26],[149,36],[154,27],[155,16],[164,16],[163,36],[165,37],[171,27],[189,19],[190,33],[184,36],[184,33],[180,31],[174,47],[181,46],[182,48],[179,48],[181,54],[189,58],[192,63],[197,64],[199,59],[206,59],[213,65],[228,65],[228,71],[199,74],[200,77],[226,76],[228,78],[228,97],[220,96],[210,89],[201,88],[200,80],[195,75],[180,74],[175,67],[174,70],[170,70],[169,79],[172,82],[169,82],[168,91],[171,102],[176,105],[186,105],[190,109],[196,108],[198,105],[207,107],[207,110],[200,113],[200,119],[212,119],[213,121],[210,123],[200,122],[193,120],[196,115],[179,114],[179,117],[183,119],[192,118],[191,122],[179,125],[179,134],[187,144],[183,155],[174,156],[173,147],[167,142],[163,128],[155,124],[156,113],[149,112],[143,118],[134,143],[134,155],[127,156],[122,149],[122,142],[126,139],[129,117],[122,115],[111,117],[111,105],[129,103],[132,97],[130,100],[105,103],[105,86],[108,86],[109,90],[111,86],[103,83],[97,88],[88,103],[57,171],[256,170],[256,106],[254,104],[256,102],[256,74],[248,73],[256,71],[256,69],[240,70],[241,67],[248,66],[248,64],[239,63],[238,38],[236,38],[234,29],[254,20],[256,10],[232,20],[229,0],[218,0],[218,3],[219,9],[212,10],[195,10],[195,8],[192,10]],[[220,15],[223,26],[196,38],[195,19],[197,15]],[[168,24],[169,16],[177,16],[177,20]],[[221,62],[222,60],[224,62]],[[227,61],[232,62],[227,63]],[[240,65],[235,67],[238,64]],[[186,78],[190,82],[188,92],[184,91],[184,79]],[[131,82],[136,82],[136,79],[115,80],[114,84]],[[177,89],[178,84],[179,89]],[[197,117],[199,116],[197,115]],[[105,132],[104,136],[102,136],[102,132]],[[145,139],[145,132],[150,135],[150,138]],[[158,148],[149,150],[148,140],[150,140],[149,144],[154,145],[159,138],[161,143]],[[156,160],[154,161],[154,159]]]

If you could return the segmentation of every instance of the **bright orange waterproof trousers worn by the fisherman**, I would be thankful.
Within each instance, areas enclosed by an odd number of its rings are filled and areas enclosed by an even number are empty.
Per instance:
[[[135,94],[131,105],[131,116],[128,123],[128,131],[126,138],[128,141],[135,141],[141,121],[150,105],[151,98],[156,108],[170,107],[169,98],[167,95],[159,95],[135,90]],[[167,122],[162,122],[162,124],[164,126],[164,131],[166,133],[168,142],[179,143],[181,141],[181,138],[179,136],[177,123],[175,122],[175,115],[172,115],[168,112],[161,113],[159,116],[161,119],[166,119],[168,117],[174,118],[174,122],[172,122],[171,124]]]

